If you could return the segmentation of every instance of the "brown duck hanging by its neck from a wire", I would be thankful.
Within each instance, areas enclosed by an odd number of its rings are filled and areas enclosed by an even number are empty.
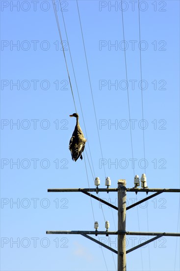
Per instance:
[[[69,142],[69,149],[71,151],[72,159],[76,162],[79,157],[82,160],[82,152],[84,150],[85,143],[87,140],[86,138],[84,138],[84,135],[80,128],[79,121],[78,121],[78,118],[79,118],[78,114],[74,113],[73,115],[70,115],[70,117],[76,118],[75,130]]]

